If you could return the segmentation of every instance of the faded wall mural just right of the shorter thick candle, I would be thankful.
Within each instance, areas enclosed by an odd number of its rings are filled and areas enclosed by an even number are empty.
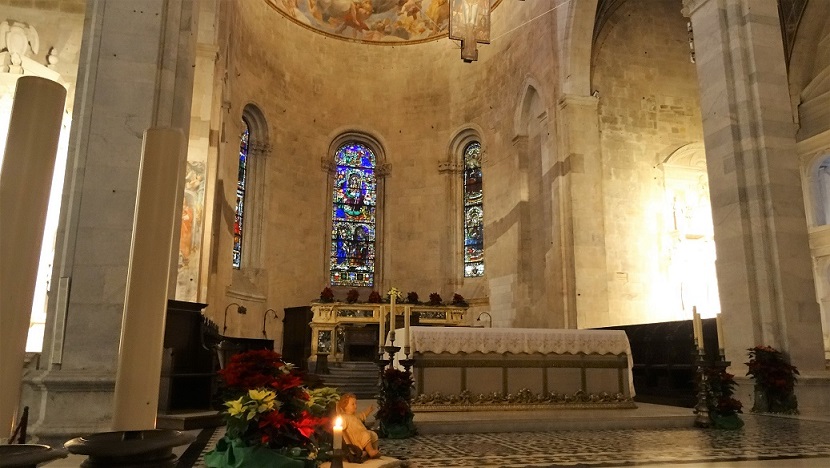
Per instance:
[[[205,164],[187,161],[179,237],[179,272],[176,299],[196,300],[204,226]]]

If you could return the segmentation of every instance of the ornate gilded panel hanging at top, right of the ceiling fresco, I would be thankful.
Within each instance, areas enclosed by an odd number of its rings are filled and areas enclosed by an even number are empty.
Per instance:
[[[461,41],[461,60],[478,60],[477,43],[490,43],[490,0],[450,0],[450,39]]]

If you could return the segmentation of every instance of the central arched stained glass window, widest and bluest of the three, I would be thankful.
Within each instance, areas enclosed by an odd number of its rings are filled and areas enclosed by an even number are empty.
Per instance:
[[[360,143],[334,155],[330,283],[372,286],[375,279],[375,154]]]

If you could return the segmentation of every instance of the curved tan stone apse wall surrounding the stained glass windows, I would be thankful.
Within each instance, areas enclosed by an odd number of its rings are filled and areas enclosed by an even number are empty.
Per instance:
[[[298,27],[264,2],[231,9],[228,56],[220,58],[220,63],[228,63],[223,100],[229,108],[222,113],[217,171],[224,182],[224,200],[217,200],[221,208],[216,210],[225,212],[233,203],[239,118],[242,108],[254,103],[268,122],[272,148],[267,157],[262,271],[249,275],[265,298],[258,307],[304,305],[326,286],[331,188],[321,159],[330,160],[329,146],[338,135],[359,131],[379,142],[385,153],[380,163],[388,164],[381,182],[381,274],[375,289],[396,286],[424,298],[439,292],[445,299],[459,292],[479,304],[489,302],[494,326],[513,323],[517,301],[527,301],[518,292],[522,226],[517,212],[526,194],[517,170],[513,115],[529,76],[542,83],[540,87],[553,83],[556,76],[555,15],[521,25],[552,5],[509,2],[498,8],[493,41],[479,45],[479,61],[472,64],[463,63],[457,44],[447,39],[369,46]],[[543,109],[553,107],[552,88],[538,90]],[[485,148],[487,274],[477,279],[462,278],[461,259],[447,258],[451,249],[446,244],[461,242],[451,235],[453,229],[460,232],[455,226],[460,212],[457,217],[449,214],[456,201],[448,199],[449,186],[456,183],[452,177],[460,175],[439,172],[439,163],[451,159],[448,151],[455,134],[471,125],[481,129]],[[554,153],[551,148],[544,152]],[[537,162],[537,170],[547,171],[552,164]],[[217,306],[213,313],[220,320],[235,281],[229,219],[223,215],[214,225],[207,298]],[[531,236],[543,254],[552,248],[544,245],[545,235],[543,231]],[[499,291],[498,297],[490,296],[491,286]],[[367,295],[362,292],[363,298]],[[230,314],[229,334],[255,335],[260,320],[257,314]]]

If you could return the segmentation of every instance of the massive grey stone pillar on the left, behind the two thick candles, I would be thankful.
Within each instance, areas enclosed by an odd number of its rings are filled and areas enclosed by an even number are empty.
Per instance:
[[[194,3],[87,2],[46,334],[24,388],[39,440],[110,429],[142,134],[188,133]]]

